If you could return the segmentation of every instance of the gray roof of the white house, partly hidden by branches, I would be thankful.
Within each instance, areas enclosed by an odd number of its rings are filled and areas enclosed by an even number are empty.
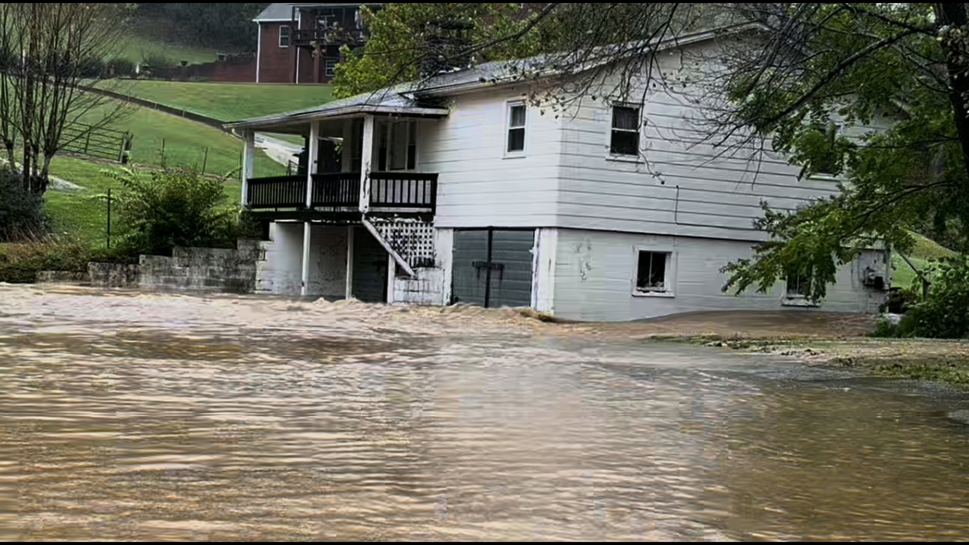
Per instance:
[[[720,28],[714,31],[698,32],[661,42],[655,46],[655,49],[679,48],[728,34],[763,28],[759,24],[744,24]],[[636,48],[635,50],[639,49]],[[617,54],[621,54],[623,50],[634,50],[634,48],[627,45],[626,47],[620,48]],[[601,60],[584,67],[585,70],[591,69],[597,64],[609,62],[610,59],[615,58],[615,55],[611,54],[610,51],[604,51],[604,54],[596,56]],[[456,70],[448,74],[439,74],[425,80],[409,81],[379,91],[362,93],[357,96],[335,100],[304,110],[278,113],[252,119],[242,119],[227,123],[225,126],[227,128],[240,129],[265,129],[271,126],[285,126],[305,122],[310,119],[318,120],[360,113],[443,117],[450,113],[447,108],[428,107],[418,97],[447,96],[488,86],[514,83],[521,80],[522,70],[532,68],[534,68],[536,73],[529,74],[529,78],[535,78],[536,76],[554,77],[556,74],[559,74],[560,72],[557,69],[548,67],[547,60],[545,57],[536,57],[516,62],[487,62],[474,68]]]

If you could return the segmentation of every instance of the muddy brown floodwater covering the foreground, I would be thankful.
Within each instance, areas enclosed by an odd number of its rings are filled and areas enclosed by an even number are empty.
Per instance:
[[[0,538],[969,538],[963,395],[633,331],[0,285]]]

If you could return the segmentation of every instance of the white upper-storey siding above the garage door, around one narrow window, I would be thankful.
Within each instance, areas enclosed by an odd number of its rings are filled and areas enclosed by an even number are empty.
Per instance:
[[[504,87],[454,97],[451,115],[422,122],[418,168],[440,173],[437,227],[555,225],[559,121],[528,108],[524,156],[505,157],[506,104],[525,91]]]

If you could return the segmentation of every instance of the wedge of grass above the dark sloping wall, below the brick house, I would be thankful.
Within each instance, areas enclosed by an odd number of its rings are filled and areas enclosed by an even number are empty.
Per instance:
[[[301,110],[324,104],[333,98],[328,85],[152,80],[133,80],[119,92],[224,121]]]

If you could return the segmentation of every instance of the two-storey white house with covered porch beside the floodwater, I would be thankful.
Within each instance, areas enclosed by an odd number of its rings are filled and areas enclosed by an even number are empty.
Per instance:
[[[725,36],[661,44],[660,67],[676,80],[684,53]],[[716,157],[688,86],[556,117],[524,100],[532,84],[488,64],[228,124],[245,135],[242,202],[268,225],[259,290],[604,321],[808,307],[795,278],[736,297],[720,269],[765,240],[762,201],[794,209],[836,180]],[[256,131],[305,137],[310,168],[249,177]],[[867,251],[819,306],[874,312],[890,280],[887,252]]]

